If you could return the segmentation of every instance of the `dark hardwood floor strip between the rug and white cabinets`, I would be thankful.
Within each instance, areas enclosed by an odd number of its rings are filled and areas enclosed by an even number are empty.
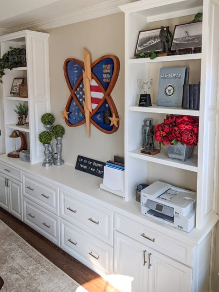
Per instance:
[[[89,292],[118,292],[98,274],[2,208],[0,219]]]

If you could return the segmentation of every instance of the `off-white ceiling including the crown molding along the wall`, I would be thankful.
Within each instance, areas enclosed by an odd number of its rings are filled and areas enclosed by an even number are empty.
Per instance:
[[[0,35],[46,30],[120,12],[136,0],[0,0]]]

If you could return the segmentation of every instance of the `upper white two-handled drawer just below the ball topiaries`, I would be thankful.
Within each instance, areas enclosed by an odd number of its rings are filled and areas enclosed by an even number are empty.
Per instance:
[[[24,175],[23,196],[59,215],[58,187]]]

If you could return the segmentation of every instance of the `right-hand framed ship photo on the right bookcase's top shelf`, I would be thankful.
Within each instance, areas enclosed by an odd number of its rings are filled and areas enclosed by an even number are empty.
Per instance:
[[[176,25],[171,51],[192,51],[201,49],[202,21]]]

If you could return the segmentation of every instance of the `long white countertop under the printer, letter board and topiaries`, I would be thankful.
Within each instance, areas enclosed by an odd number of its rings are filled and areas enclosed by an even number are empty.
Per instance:
[[[216,215],[201,230],[193,228],[191,232],[187,233],[142,215],[140,212],[140,203],[138,201],[135,201],[134,199],[131,201],[125,201],[120,196],[100,189],[99,186],[100,183],[103,182],[103,179],[76,170],[73,165],[63,164],[60,166],[52,165],[50,167],[43,167],[42,163],[30,164],[28,162],[23,162],[20,159],[9,158],[6,154],[0,155],[0,161],[14,166],[21,171],[30,173],[38,179],[49,179],[50,183],[55,183],[60,188],[64,188],[83,198],[109,208],[114,212],[118,212],[134,219],[139,223],[145,224],[164,233],[165,235],[178,238],[192,246],[199,244],[218,221],[218,216]]]

